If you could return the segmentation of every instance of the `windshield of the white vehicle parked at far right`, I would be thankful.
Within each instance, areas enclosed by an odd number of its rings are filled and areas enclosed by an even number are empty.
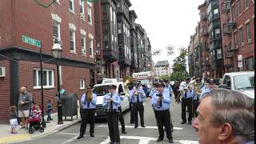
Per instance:
[[[254,74],[234,76],[234,89],[254,89]]]

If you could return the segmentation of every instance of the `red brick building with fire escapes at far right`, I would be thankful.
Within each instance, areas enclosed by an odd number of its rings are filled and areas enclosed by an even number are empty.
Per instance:
[[[254,0],[220,0],[219,6],[226,72],[254,70]]]

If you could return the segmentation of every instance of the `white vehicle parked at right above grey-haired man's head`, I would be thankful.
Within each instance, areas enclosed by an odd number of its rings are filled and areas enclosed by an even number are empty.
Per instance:
[[[220,80],[220,86],[230,90],[238,90],[250,98],[254,98],[254,71],[226,73]]]

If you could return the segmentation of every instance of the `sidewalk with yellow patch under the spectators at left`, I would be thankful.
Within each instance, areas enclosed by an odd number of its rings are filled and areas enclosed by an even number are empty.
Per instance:
[[[58,114],[54,113],[51,114],[51,117],[53,118],[50,123],[46,123],[46,128],[43,133],[40,133],[38,130],[34,130],[34,134],[30,134],[28,130],[21,129],[21,126],[18,126],[18,134],[10,134],[10,125],[0,125],[0,143],[12,143],[12,142],[22,142],[22,141],[27,141],[31,139],[36,139],[36,138],[42,138],[46,135],[53,134],[57,132],[58,130],[63,130],[69,126],[74,125],[77,122],[81,121],[80,118],[80,113],[78,109],[78,119],[77,116],[73,117],[73,122],[71,122],[71,117],[66,117],[66,121],[64,121],[63,117],[63,124],[58,125]],[[45,116],[46,120],[47,116]]]

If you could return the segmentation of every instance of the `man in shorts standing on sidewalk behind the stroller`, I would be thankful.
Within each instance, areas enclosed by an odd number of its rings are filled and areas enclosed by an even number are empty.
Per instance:
[[[22,120],[22,128],[27,128],[31,104],[32,96],[26,91],[26,87],[21,87],[18,98],[18,117]]]

